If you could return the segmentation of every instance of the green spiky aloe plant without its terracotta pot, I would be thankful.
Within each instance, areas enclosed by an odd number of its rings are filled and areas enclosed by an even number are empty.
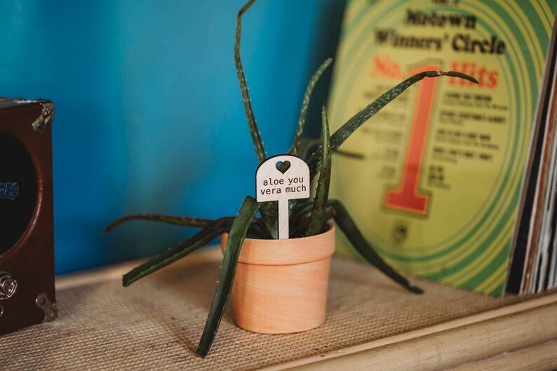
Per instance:
[[[248,93],[248,87],[246,86],[246,79],[240,58],[242,16],[254,3],[255,0],[248,1],[248,3],[240,9],[237,15],[234,60],[236,62],[236,72],[238,74],[244,108],[246,110],[248,127],[255,145],[257,159],[262,162],[267,158],[267,153],[265,152],[261,135],[257,129],[257,123],[255,122],[255,117],[253,115],[250,95]],[[424,78],[434,78],[438,76],[456,76],[474,83],[478,83],[478,81],[471,76],[467,76],[459,72],[428,71],[416,74],[402,81],[397,86],[394,86],[394,88],[391,88],[376,100],[368,104],[364,109],[358,112],[358,114],[354,115],[351,119],[344,123],[344,125],[333,133],[333,135],[329,134],[326,107],[323,106],[321,140],[304,140],[302,138],[302,132],[311,93],[314,90],[319,77],[323,74],[331,62],[331,59],[323,62],[308,83],[302,100],[302,108],[300,110],[300,117],[295,131],[293,146],[288,152],[289,154],[295,154],[297,156],[301,156],[302,158],[308,158],[307,154],[309,153],[309,150],[311,148],[315,148],[315,150],[311,153],[311,156],[307,159],[307,163],[310,169],[310,177],[314,179],[317,175],[319,175],[314,199],[290,201],[290,238],[319,234],[323,229],[323,225],[328,220],[333,219],[340,231],[347,236],[349,242],[367,262],[375,265],[375,267],[389,276],[389,278],[402,285],[403,288],[409,290],[410,292],[421,293],[422,290],[420,288],[410,285],[406,278],[389,267],[389,265],[384,262],[382,257],[375,252],[373,246],[365,240],[361,232],[358,230],[356,223],[352,220],[342,203],[337,200],[328,199],[331,155],[336,149],[338,149],[338,147],[340,147],[344,140],[347,140],[347,138],[354,133],[356,129],[365,123],[365,121],[368,121],[368,119],[382,109],[382,107],[391,102],[391,100],[394,100],[395,97],[403,93],[404,90],[418,81]],[[257,212],[259,212],[260,217],[256,217]],[[238,214],[235,217],[221,217],[217,220],[209,220],[195,217],[177,217],[158,214],[127,215],[112,222],[112,224],[105,229],[105,233],[111,231],[123,222],[128,222],[130,220],[149,220],[184,227],[201,228],[201,231],[194,234],[186,241],[175,245],[166,252],[156,255],[144,264],[141,264],[139,267],[136,267],[132,271],[125,274],[123,276],[124,286],[128,286],[140,278],[152,274],[154,271],[177,261],[177,259],[187,256],[190,252],[193,252],[194,250],[201,248],[201,246],[206,243],[213,241],[214,238],[220,236],[223,232],[229,233],[227,245],[224,250],[220,275],[217,281],[215,295],[213,297],[213,304],[210,307],[203,335],[201,335],[201,341],[199,342],[199,346],[196,350],[196,353],[204,358],[213,343],[213,339],[215,339],[222,314],[224,313],[224,309],[227,305],[232,284],[234,283],[234,274],[236,272],[236,265],[238,263],[240,249],[244,238],[246,238],[246,236],[250,238],[277,238],[276,217],[277,207],[275,201],[257,203],[255,198],[246,196]]]

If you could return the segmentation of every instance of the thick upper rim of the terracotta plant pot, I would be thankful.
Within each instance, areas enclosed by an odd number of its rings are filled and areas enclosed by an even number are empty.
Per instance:
[[[257,265],[293,265],[329,258],[335,252],[335,225],[326,223],[327,231],[315,236],[264,240],[246,238],[240,250],[239,263]],[[221,235],[224,252],[228,234]]]

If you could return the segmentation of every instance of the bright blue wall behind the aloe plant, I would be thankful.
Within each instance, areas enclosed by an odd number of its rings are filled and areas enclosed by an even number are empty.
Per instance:
[[[0,95],[46,97],[56,271],[154,255],[192,230],[128,213],[234,215],[257,166],[234,69],[243,0],[0,1]],[[343,0],[260,0],[242,56],[268,154],[290,147],[307,80],[334,57]],[[330,72],[309,113],[320,125]],[[311,131],[311,128],[310,128]]]

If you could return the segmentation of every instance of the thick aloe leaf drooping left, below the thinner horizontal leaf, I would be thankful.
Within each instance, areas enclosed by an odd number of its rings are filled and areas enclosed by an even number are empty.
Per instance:
[[[143,278],[149,274],[152,274],[159,269],[166,267],[168,264],[175,262],[177,259],[188,255],[190,252],[194,252],[201,246],[212,241],[214,238],[227,231],[234,217],[222,217],[215,220],[208,227],[201,229],[194,236],[188,238],[186,241],[178,243],[173,248],[166,250],[165,252],[152,257],[147,262],[135,267],[123,276],[123,285],[129,286],[135,281]]]

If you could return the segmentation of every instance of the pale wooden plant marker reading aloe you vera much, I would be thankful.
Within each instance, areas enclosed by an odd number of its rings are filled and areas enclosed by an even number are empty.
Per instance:
[[[288,200],[309,197],[309,167],[290,154],[271,156],[255,173],[257,202],[278,201],[278,239],[288,238]]]

